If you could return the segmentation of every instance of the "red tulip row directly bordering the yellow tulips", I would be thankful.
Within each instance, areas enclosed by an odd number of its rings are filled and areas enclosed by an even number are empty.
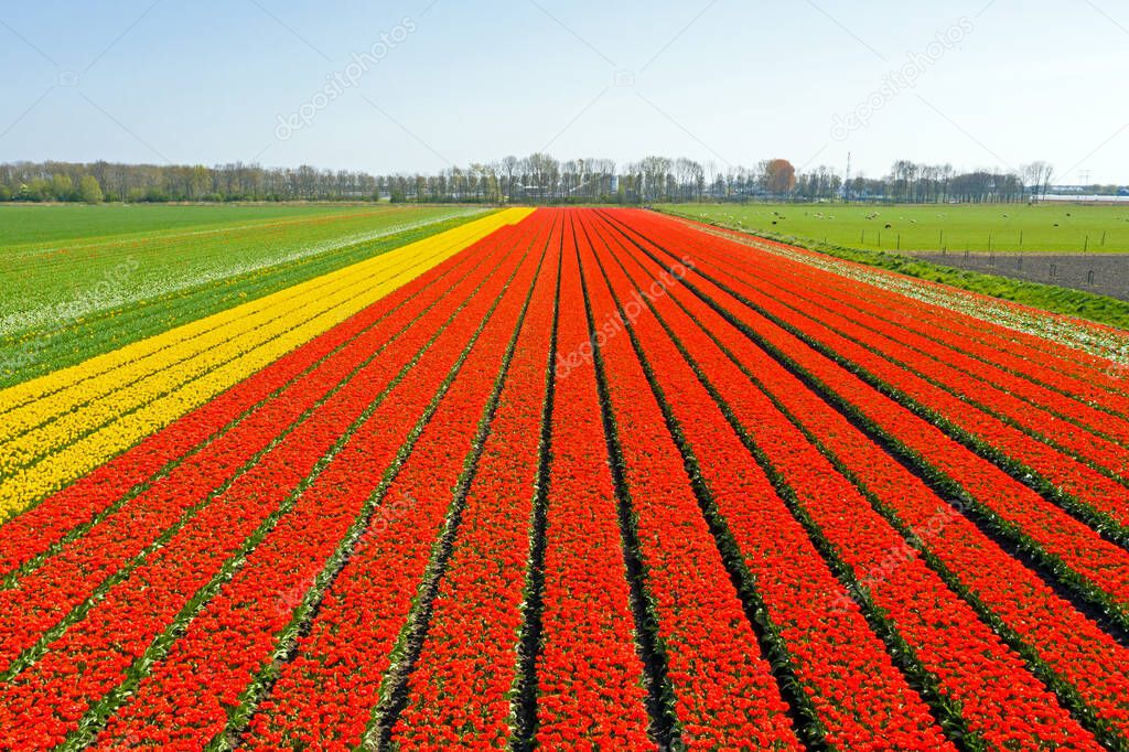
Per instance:
[[[432,286],[470,257],[458,254],[421,274],[0,526],[0,574],[11,576],[60,542],[85,533],[91,523],[149,488],[186,457],[204,451],[264,404],[280,397],[283,390],[361,332],[384,321],[422,291],[439,292]]]

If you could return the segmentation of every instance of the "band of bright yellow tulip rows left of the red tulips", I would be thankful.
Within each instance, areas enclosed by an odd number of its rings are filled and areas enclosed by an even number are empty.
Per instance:
[[[0,392],[0,405],[14,414],[20,410],[25,425],[37,421],[0,445],[0,522],[527,213],[491,215],[268,296],[275,299],[265,305],[266,298],[248,303]],[[244,318],[252,323],[240,325]],[[147,369],[139,371],[134,366],[141,360]],[[169,362],[175,366],[163,368]],[[68,404],[61,395],[73,405],[88,387],[104,390],[107,379],[126,385],[78,410],[60,406]],[[28,403],[23,401],[28,393],[49,399]],[[33,417],[29,409],[40,405],[55,412]],[[7,418],[0,414],[0,422]]]

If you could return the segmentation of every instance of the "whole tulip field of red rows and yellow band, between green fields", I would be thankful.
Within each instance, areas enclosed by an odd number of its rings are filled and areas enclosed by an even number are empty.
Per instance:
[[[460,222],[0,390],[0,750],[1129,749],[1129,333]]]

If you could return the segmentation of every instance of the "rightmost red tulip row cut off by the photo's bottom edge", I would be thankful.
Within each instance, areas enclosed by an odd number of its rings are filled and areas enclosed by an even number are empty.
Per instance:
[[[653,239],[664,242],[662,237]],[[698,254],[692,256],[697,262]],[[693,280],[697,282],[698,277]],[[681,289],[671,297],[686,305],[691,316],[704,309],[700,300],[690,299]],[[686,330],[689,326],[677,331]],[[1054,696],[1027,672],[1019,656],[921,559],[904,556],[896,559],[895,566],[887,563],[892,552],[904,550],[904,539],[776,409],[767,394],[750,390],[747,377],[706,338],[688,334],[683,344],[695,359],[699,355],[710,358],[701,364],[702,370],[710,374],[707,383],[732,410],[735,425],[762,453],[763,461],[778,475],[778,484],[794,496],[809,521],[816,543],[846,566],[854,579],[850,584],[856,588],[855,597],[882,610],[912,659],[936,682],[939,694],[961,708],[973,734],[1005,749],[1032,738],[1099,749]],[[728,377],[723,381],[715,375]],[[881,576],[870,577],[875,571]]]

